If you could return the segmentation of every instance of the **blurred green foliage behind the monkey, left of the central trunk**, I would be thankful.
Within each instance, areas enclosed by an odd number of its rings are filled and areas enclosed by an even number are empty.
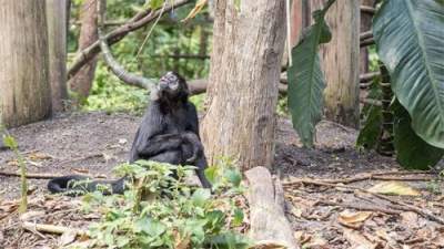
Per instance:
[[[74,0],[72,2],[71,20],[79,20],[82,2],[82,0]],[[108,0],[108,20],[123,22],[141,10],[144,3],[144,0]],[[112,46],[113,55],[127,70],[147,77],[157,79],[165,71],[171,70],[179,72],[185,79],[190,80],[206,77],[210,66],[208,59],[185,60],[171,56],[178,54],[210,54],[211,45],[200,45],[202,35],[208,38],[206,44],[211,44],[212,23],[208,21],[206,10],[186,23],[180,22],[180,20],[186,17],[192,7],[193,4],[188,4],[164,15],[153,29],[139,58],[135,58],[135,55],[151,25],[130,33],[122,41],[114,44]],[[68,50],[71,59],[78,50],[79,32],[80,24],[75,21],[71,22],[68,41]],[[121,83],[109,72],[99,55],[93,86],[90,96],[82,105],[82,110],[107,110],[109,112],[130,110],[140,112],[144,110],[147,98],[147,91]],[[202,103],[202,96],[193,97],[192,101],[200,104]]]

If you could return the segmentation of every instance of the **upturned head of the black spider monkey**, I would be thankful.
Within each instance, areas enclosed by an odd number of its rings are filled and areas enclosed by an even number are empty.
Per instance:
[[[175,72],[168,72],[159,80],[158,87],[152,91],[151,100],[178,102],[189,96],[186,81]]]

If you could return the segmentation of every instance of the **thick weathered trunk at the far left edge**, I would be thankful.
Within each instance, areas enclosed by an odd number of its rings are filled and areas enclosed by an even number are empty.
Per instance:
[[[0,114],[9,127],[51,114],[44,1],[2,1]]]

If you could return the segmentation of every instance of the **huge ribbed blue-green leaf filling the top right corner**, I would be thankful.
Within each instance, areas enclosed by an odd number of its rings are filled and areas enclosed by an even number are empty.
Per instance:
[[[412,128],[444,148],[444,1],[385,0],[373,34]]]

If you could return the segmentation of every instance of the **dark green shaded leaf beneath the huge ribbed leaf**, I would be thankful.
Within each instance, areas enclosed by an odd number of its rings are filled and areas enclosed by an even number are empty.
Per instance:
[[[405,108],[396,101],[394,111],[394,146],[396,159],[405,168],[428,169],[443,157],[444,149],[425,143],[412,129],[411,118]]]

